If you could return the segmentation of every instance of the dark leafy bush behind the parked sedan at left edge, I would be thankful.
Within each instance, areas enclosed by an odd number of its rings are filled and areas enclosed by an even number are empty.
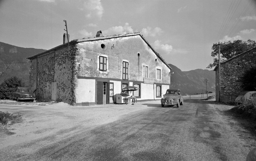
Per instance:
[[[25,83],[22,82],[22,79],[16,76],[4,79],[4,82],[0,85],[0,99],[11,99],[12,92],[14,92],[17,87],[24,86]]]

